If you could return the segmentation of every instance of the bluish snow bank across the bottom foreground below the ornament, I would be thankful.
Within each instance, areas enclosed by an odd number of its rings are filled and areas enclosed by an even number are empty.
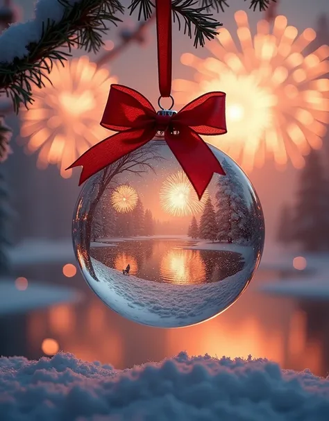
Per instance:
[[[329,379],[267,360],[189,358],[115,370],[71,354],[0,359],[1,421],[327,421]]]

